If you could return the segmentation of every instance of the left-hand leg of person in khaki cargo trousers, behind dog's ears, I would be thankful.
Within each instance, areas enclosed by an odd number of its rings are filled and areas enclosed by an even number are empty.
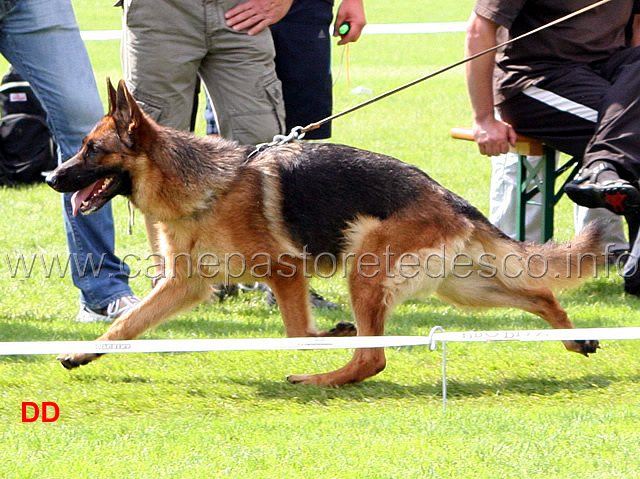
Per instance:
[[[140,107],[160,125],[189,131],[197,71],[206,54],[201,1],[125,2],[122,69]],[[155,220],[145,216],[151,250],[158,254]],[[161,275],[156,270],[154,281]]]

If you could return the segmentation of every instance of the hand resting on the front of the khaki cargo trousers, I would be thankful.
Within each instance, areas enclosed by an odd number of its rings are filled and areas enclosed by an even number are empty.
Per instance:
[[[293,0],[247,0],[224,14],[227,26],[257,35],[284,17]]]

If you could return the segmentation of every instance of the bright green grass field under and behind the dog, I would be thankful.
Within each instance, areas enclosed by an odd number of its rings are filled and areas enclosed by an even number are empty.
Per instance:
[[[84,30],[119,28],[111,2],[76,0]],[[472,0],[369,2],[370,23],[463,21]],[[336,111],[461,58],[462,34],[371,35],[350,49]],[[121,76],[119,42],[89,42],[99,85]],[[341,68],[336,50],[334,72]],[[3,66],[3,65],[0,65]],[[104,94],[104,92],[101,92]],[[469,124],[462,70],[334,123],[333,141],[390,154],[488,208],[489,163],[449,128]],[[201,126],[200,126],[201,127]],[[0,189],[0,341],[91,340],[105,326],[78,324],[69,277],[15,270],[20,255],[64,256],[59,197],[45,186]],[[142,219],[127,234],[114,200],[118,253],[148,254]],[[571,205],[557,237],[572,234]],[[9,264],[10,263],[10,264]],[[145,261],[132,261],[134,271]],[[149,291],[133,278],[139,295]],[[349,319],[345,285],[314,282],[340,305],[317,311],[329,327]],[[640,326],[640,300],[613,275],[559,295],[579,327]],[[401,305],[387,334],[547,327],[516,310],[459,311],[427,298]],[[145,338],[281,337],[277,309],[257,293],[201,305]],[[341,389],[285,377],[343,365],[351,351],[112,355],[75,371],[49,356],[0,356],[0,477],[6,478],[635,478],[640,476],[640,360],[634,341],[610,341],[584,358],[559,343],[449,345],[449,408],[441,406],[440,354],[389,350],[378,376]],[[21,403],[55,401],[53,423],[22,423]]]

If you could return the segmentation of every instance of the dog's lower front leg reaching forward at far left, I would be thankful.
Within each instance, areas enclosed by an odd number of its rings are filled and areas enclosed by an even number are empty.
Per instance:
[[[98,341],[135,339],[170,316],[201,302],[208,287],[197,279],[165,278],[135,308],[116,319]],[[67,369],[90,363],[100,354],[62,354]]]

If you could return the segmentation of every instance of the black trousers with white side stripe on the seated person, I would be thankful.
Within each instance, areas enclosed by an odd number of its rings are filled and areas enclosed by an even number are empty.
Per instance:
[[[498,105],[503,120],[557,150],[606,160],[640,179],[640,47],[595,64],[553,65],[533,87]]]

